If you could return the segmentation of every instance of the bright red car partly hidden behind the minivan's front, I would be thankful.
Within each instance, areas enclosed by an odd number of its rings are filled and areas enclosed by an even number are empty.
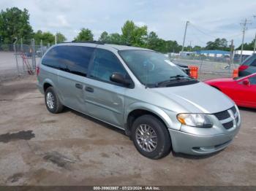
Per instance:
[[[225,93],[238,106],[256,108],[256,73],[247,77],[209,79],[205,82]]]

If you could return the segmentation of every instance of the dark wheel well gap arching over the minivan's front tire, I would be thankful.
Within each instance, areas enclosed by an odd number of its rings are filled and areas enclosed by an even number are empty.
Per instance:
[[[165,125],[165,122],[157,114],[154,114],[153,112],[149,112],[144,109],[135,109],[132,112],[130,112],[127,117],[127,128],[126,128],[127,136],[131,135],[131,129],[132,129],[133,122],[135,122],[135,120],[138,117],[143,116],[144,114],[151,114],[152,116],[156,117],[159,121],[161,121]],[[165,127],[166,127],[166,125],[165,125]]]

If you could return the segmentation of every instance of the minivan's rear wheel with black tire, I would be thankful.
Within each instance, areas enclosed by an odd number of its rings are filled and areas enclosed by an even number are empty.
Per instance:
[[[53,87],[48,87],[45,90],[45,106],[48,111],[53,114],[58,114],[64,109],[64,106],[61,104],[61,101],[59,101],[58,95],[55,93]]]

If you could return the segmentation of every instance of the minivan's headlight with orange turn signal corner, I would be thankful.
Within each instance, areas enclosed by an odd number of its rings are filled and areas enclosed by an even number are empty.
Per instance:
[[[211,128],[213,125],[206,114],[177,114],[177,119],[183,125],[197,128]]]

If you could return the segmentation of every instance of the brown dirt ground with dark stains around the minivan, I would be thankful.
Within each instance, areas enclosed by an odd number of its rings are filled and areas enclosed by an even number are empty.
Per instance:
[[[256,185],[256,110],[208,157],[140,155],[121,130],[66,109],[50,114],[35,77],[0,84],[0,184]]]

